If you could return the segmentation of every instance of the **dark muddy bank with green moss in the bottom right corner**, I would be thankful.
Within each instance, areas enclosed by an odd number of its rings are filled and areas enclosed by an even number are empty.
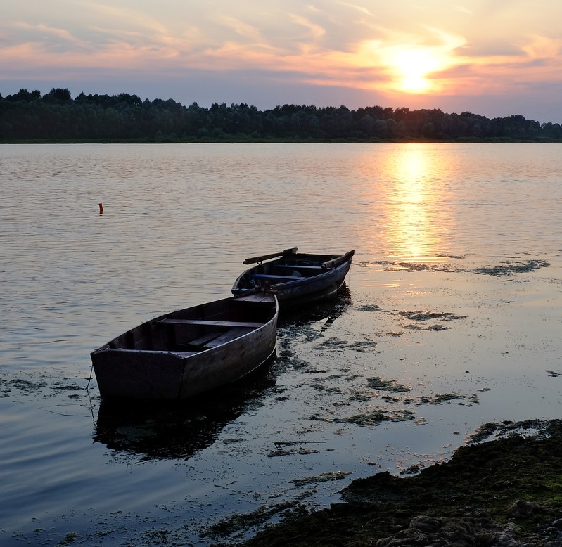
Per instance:
[[[486,424],[483,439],[418,475],[354,480],[343,503],[293,508],[244,546],[562,546],[562,420]]]

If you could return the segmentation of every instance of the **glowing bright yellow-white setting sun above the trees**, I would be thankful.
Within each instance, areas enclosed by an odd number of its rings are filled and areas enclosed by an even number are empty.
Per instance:
[[[390,58],[395,82],[407,93],[427,93],[434,84],[428,75],[443,67],[442,59],[430,49],[400,49]]]

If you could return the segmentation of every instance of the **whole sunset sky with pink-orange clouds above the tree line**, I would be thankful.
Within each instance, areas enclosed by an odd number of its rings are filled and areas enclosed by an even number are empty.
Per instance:
[[[562,123],[562,0],[1,0],[0,94]]]

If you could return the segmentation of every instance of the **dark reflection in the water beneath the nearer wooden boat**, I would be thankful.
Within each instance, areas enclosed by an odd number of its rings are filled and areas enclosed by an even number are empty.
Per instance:
[[[94,442],[143,461],[189,459],[215,442],[226,425],[274,386],[268,369],[186,401],[103,400]]]

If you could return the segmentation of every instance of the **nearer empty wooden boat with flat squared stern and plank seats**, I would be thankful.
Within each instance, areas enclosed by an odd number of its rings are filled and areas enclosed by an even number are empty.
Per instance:
[[[255,290],[142,323],[91,353],[100,394],[177,400],[236,382],[274,357],[278,316]]]

